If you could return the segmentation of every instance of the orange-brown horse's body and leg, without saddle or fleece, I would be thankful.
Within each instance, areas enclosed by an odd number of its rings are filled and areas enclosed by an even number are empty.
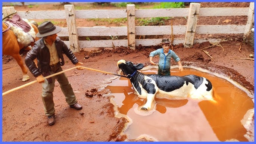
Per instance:
[[[35,34],[38,33],[38,29],[37,26],[35,26],[34,24],[31,24],[32,27],[35,30]],[[8,26],[6,24],[4,24],[4,22],[2,22],[2,26],[3,26],[3,31],[5,29],[8,28]],[[18,42],[16,35],[14,34],[14,32],[12,30],[8,30],[6,32],[4,32],[2,34],[2,41],[3,41],[3,54],[4,55],[9,55],[12,56],[16,62],[18,63],[18,65],[21,67],[21,70],[23,72],[23,78],[22,81],[28,81],[29,80],[29,76],[27,75],[28,71],[25,68],[23,61],[21,59],[21,56],[19,54],[19,51],[26,47],[25,50],[30,50],[31,48],[28,46],[24,46],[24,44],[21,44]],[[39,40],[39,38],[35,38],[35,41]],[[34,46],[34,42],[30,43],[30,46],[33,47]]]

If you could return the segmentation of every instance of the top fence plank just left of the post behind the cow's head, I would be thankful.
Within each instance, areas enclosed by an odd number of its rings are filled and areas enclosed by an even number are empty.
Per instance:
[[[126,10],[76,10],[77,19],[126,18]]]

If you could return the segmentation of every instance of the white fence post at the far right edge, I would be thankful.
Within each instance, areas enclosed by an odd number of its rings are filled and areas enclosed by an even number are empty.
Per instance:
[[[254,23],[254,3],[250,3],[249,6],[249,11],[248,11],[248,15],[247,15],[247,22],[245,25],[245,29],[244,29],[244,36],[247,35],[252,27],[253,27],[253,23]]]

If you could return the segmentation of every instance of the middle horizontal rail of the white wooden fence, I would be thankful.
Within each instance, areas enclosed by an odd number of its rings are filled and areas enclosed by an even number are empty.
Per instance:
[[[197,25],[196,34],[243,34],[245,25]],[[186,26],[173,26],[173,34],[185,34]],[[127,35],[123,27],[81,27],[77,28],[79,37]],[[136,35],[169,35],[171,26],[135,26]],[[59,37],[68,37],[68,28],[62,28]]]

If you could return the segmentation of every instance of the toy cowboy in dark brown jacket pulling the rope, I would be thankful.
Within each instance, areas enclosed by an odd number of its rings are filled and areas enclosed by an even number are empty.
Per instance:
[[[77,57],[67,47],[67,45],[57,37],[57,33],[62,29],[59,26],[53,25],[50,21],[43,22],[38,26],[37,37],[40,40],[35,42],[34,47],[27,53],[25,57],[26,66],[29,71],[35,76],[39,83],[42,83],[42,100],[44,104],[44,112],[48,116],[47,122],[49,125],[55,123],[55,109],[53,102],[53,90],[55,79],[59,82],[60,88],[65,95],[66,102],[74,109],[82,109],[82,106],[78,104],[71,84],[68,81],[65,73],[53,76],[45,79],[45,76],[52,75],[57,72],[61,72],[61,66],[64,65],[65,61],[63,54],[71,60],[75,66],[82,65],[78,62]],[[34,63],[34,59],[38,60],[38,68]],[[79,70],[83,68],[77,68]]]

